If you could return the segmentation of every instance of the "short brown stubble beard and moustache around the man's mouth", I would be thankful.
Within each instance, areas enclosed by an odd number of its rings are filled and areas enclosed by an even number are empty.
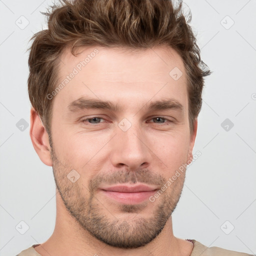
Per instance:
[[[121,214],[122,217],[118,217],[117,211],[114,212],[110,206],[107,209],[96,198],[95,190],[98,185],[105,181],[108,183],[110,181],[113,184],[139,181],[161,186],[166,182],[165,178],[145,169],[130,172],[115,171],[110,180],[104,175],[94,177],[86,188],[83,184],[78,185],[79,182],[70,182],[66,175],[71,169],[60,163],[53,147],[51,149],[55,184],[67,211],[83,230],[110,246],[137,248],[152,241],[163,229],[180,198],[184,183],[182,175],[178,177],[179,180],[175,180],[176,183],[171,184],[172,187],[167,187],[154,202],[148,200],[146,207],[152,209],[148,217],[139,216],[144,204],[118,205],[118,212],[128,214],[128,219],[125,220],[124,214]],[[83,196],[85,194],[88,196]],[[134,218],[129,218],[129,213],[136,213],[136,215]]]

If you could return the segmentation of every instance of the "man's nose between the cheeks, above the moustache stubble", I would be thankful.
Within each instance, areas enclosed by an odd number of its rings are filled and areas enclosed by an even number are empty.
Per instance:
[[[111,139],[110,160],[114,167],[124,167],[129,170],[146,168],[152,158],[148,148],[149,138],[134,123],[123,131],[117,127],[116,135]]]

